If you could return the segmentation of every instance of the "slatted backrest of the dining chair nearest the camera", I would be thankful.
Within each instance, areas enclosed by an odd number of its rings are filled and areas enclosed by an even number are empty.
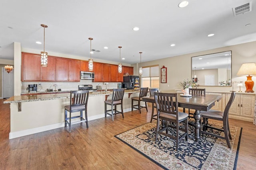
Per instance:
[[[178,114],[175,106],[178,106],[177,93],[159,93],[155,92],[156,110],[160,112],[176,115],[178,121]]]

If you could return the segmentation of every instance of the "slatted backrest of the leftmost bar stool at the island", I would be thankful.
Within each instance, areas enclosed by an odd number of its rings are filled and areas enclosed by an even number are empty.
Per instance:
[[[87,107],[89,90],[70,91],[70,107],[85,105]]]

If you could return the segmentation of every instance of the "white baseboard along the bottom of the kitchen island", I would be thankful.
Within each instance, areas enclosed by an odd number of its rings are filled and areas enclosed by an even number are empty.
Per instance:
[[[131,110],[132,110],[132,108],[124,109],[124,113],[128,112],[128,111],[131,111]],[[110,116],[110,115],[107,115],[107,116]],[[100,114],[100,115],[90,116],[90,117],[88,117],[88,123],[90,123],[89,122],[90,120],[100,119],[100,118],[103,118],[103,117],[105,117],[104,113]],[[64,127],[64,126],[65,126],[65,123],[61,122],[61,123],[56,123],[56,124],[53,124],[53,125],[46,125],[46,126],[42,126],[42,127],[36,127],[36,128],[33,128],[33,129],[26,129],[26,130],[23,130],[23,131],[10,132],[9,133],[9,139],[14,139],[14,138],[17,138],[17,137],[31,135],[31,134],[34,134],[34,133],[40,133],[40,132],[44,132],[44,131],[48,131],[48,130],[52,130],[52,129],[57,129],[57,128]]]

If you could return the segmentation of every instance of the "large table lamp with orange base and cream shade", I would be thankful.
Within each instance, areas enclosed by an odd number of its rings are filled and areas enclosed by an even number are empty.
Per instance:
[[[243,63],[238,70],[237,76],[246,76],[247,80],[244,82],[246,90],[245,92],[254,92],[252,90],[254,82],[252,76],[256,76],[256,64],[255,63]]]

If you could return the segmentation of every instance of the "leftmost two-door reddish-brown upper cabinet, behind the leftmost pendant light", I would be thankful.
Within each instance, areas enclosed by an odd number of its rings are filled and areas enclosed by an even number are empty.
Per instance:
[[[55,81],[56,60],[48,56],[48,66],[42,67],[41,56],[22,53],[22,81]]]

